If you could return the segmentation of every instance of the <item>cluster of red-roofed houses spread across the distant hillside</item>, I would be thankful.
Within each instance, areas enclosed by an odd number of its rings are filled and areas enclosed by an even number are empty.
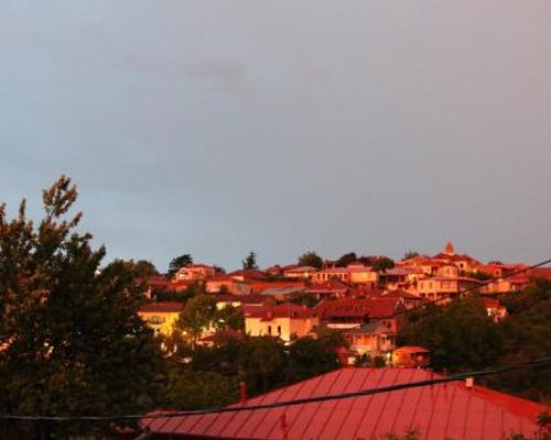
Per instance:
[[[477,293],[488,317],[498,321],[507,315],[500,296],[525,289],[533,277],[551,279],[551,268],[482,263],[456,253],[452,242],[433,256],[407,256],[397,262],[371,257],[376,263],[383,261],[386,267],[366,265],[349,254],[343,261],[318,258],[318,267],[289,264],[227,274],[213,265],[192,263],[177,268],[172,277],[147,280],[149,301],[140,308],[140,316],[155,333],[170,336],[179,331],[176,323],[185,301],[162,298],[202,292],[217,309],[238,309],[246,334],[289,343],[334,330],[349,343],[345,364],[354,364],[361,356],[382,356],[390,365],[401,311],[429,302],[444,307],[455,298]],[[215,333],[215,327],[206,326],[196,342],[208,343]]]

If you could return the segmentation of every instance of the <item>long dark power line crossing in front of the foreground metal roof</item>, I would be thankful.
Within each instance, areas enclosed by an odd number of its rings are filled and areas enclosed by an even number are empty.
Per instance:
[[[396,391],[409,389],[409,388],[418,388],[422,386],[437,385],[444,384],[449,382],[458,382],[464,381],[467,377],[483,377],[489,376],[494,374],[503,374],[517,370],[526,370],[532,367],[541,367],[551,365],[551,356],[545,356],[541,359],[537,359],[533,361],[522,362],[519,364],[507,365],[499,369],[489,369],[483,371],[474,371],[468,373],[453,374],[450,376],[443,376],[433,380],[426,381],[418,381],[410,382],[406,384],[398,384],[391,386],[385,386],[379,388],[371,389],[363,389],[358,392],[352,393],[341,393],[341,394],[332,394],[328,396],[317,396],[317,397],[307,397],[301,399],[293,400],[284,400],[278,402],[273,404],[264,404],[264,405],[240,405],[240,406],[231,406],[224,408],[212,408],[212,409],[199,409],[199,410],[190,410],[190,411],[171,411],[171,413],[162,413],[162,414],[149,414],[149,415],[126,415],[126,416],[68,416],[68,417],[60,417],[60,416],[18,416],[18,415],[0,415],[0,420],[26,420],[26,421],[56,421],[56,422],[66,422],[66,421],[119,421],[119,420],[136,420],[136,419],[166,419],[166,418],[175,418],[175,417],[185,417],[185,416],[205,416],[209,414],[223,414],[223,413],[241,413],[241,411],[250,411],[250,410],[262,410],[262,409],[273,409],[280,407],[289,407],[296,405],[304,405],[311,403],[318,402],[327,402],[327,400],[339,400],[345,398],[353,397],[361,397],[361,396],[371,396],[381,393],[391,393]]]

